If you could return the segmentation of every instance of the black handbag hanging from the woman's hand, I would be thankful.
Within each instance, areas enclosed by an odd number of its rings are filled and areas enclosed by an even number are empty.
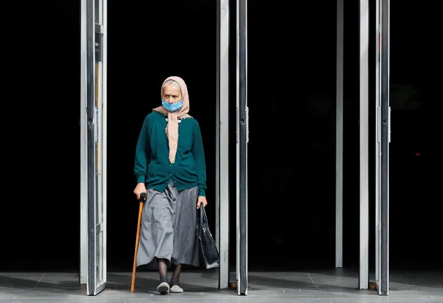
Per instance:
[[[220,266],[220,254],[217,250],[216,241],[209,231],[208,218],[205,207],[200,205],[200,227],[198,230],[198,239],[200,241],[200,250],[206,269],[218,268]]]

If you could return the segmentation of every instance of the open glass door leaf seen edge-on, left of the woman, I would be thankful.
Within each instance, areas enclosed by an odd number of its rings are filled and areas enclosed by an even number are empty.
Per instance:
[[[88,44],[95,54],[87,62],[89,94],[87,96],[87,119],[94,121],[88,130],[88,271],[87,293],[97,295],[105,288],[105,225],[103,205],[103,0],[87,1],[89,15],[87,36],[94,44]],[[92,20],[93,19],[93,20]],[[91,40],[88,40],[91,41]],[[92,204],[89,207],[89,204]]]

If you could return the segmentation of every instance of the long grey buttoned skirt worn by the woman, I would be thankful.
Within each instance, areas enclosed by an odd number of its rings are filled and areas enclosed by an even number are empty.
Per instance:
[[[137,266],[157,268],[157,258],[200,266],[198,187],[180,193],[173,182],[164,192],[148,189],[141,218]]]

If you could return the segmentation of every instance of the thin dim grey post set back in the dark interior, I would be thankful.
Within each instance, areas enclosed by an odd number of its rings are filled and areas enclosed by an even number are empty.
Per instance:
[[[343,0],[337,0],[336,268],[343,267]]]

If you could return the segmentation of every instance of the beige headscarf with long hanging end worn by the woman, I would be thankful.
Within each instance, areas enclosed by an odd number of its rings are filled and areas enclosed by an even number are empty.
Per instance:
[[[180,110],[177,110],[176,112],[168,112],[163,105],[159,107],[155,107],[153,111],[155,112],[161,112],[162,114],[168,115],[168,124],[166,124],[166,137],[168,137],[169,141],[169,162],[174,163],[175,162],[175,154],[177,153],[177,146],[178,146],[178,119],[186,119],[191,118],[189,116],[189,95],[188,95],[188,87],[186,87],[186,83],[184,83],[184,80],[177,76],[171,76],[166,78],[166,80],[163,81],[162,84],[162,99],[163,99],[163,85],[166,83],[167,80],[174,80],[180,85],[180,89],[182,89],[182,101],[183,106],[180,108]]]

